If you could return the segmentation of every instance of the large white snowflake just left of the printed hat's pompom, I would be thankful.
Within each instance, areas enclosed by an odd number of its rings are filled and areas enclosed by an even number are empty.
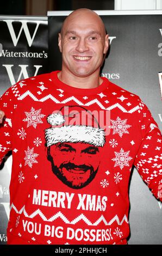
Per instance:
[[[24,122],[27,123],[27,127],[33,126],[36,128],[38,124],[42,124],[42,118],[45,117],[44,114],[41,114],[41,108],[35,110],[34,107],[31,108],[30,112],[25,112],[26,118],[23,119]]]

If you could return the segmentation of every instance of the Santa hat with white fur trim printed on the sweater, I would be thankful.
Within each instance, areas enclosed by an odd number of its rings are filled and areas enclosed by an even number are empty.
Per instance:
[[[47,147],[58,142],[82,142],[96,147],[103,147],[105,143],[104,130],[84,107],[62,107],[60,111],[48,115],[47,122],[52,125],[45,130]]]

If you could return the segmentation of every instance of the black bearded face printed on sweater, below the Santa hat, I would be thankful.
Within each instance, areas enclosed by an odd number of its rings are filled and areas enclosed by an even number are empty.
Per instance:
[[[99,149],[85,143],[57,143],[50,148],[52,170],[64,184],[82,188],[96,176]]]

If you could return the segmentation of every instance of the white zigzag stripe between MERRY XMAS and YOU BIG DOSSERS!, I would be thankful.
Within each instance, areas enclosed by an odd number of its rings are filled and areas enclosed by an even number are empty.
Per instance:
[[[109,222],[107,222],[104,218],[103,215],[101,215],[98,220],[94,223],[92,223],[84,214],[80,214],[78,217],[74,218],[73,221],[69,221],[64,214],[62,214],[62,212],[57,212],[57,214],[53,215],[51,218],[46,218],[46,216],[41,212],[40,209],[37,209],[36,211],[34,211],[32,214],[28,215],[26,210],[25,210],[25,205],[21,208],[20,211],[18,211],[15,207],[15,205],[12,203],[10,206],[10,210],[14,209],[16,214],[24,214],[25,217],[28,218],[34,218],[36,215],[39,215],[43,221],[48,221],[48,222],[53,222],[55,220],[57,220],[57,218],[61,218],[61,220],[63,220],[66,224],[73,224],[75,225],[77,222],[79,221],[84,221],[87,225],[94,225],[97,226],[99,223],[101,223],[102,221],[104,222],[105,225],[111,225],[113,224],[113,222],[117,222],[118,225],[122,225],[122,223],[125,221],[126,223],[128,222],[127,216],[124,215],[124,217],[122,218],[122,221],[120,222],[119,217],[117,215],[115,215]]]

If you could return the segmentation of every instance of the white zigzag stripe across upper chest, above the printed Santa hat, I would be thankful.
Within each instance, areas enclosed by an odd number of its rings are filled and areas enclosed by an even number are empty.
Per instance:
[[[105,110],[111,110],[111,109],[114,109],[114,108],[119,108],[122,112],[124,112],[124,113],[133,113],[133,112],[135,112],[135,111],[137,111],[138,109],[141,109],[139,106],[135,106],[134,108],[132,108],[132,109],[130,109],[129,111],[127,111],[127,109],[126,108],[124,108],[123,106],[121,106],[120,105],[120,103],[115,103],[114,105],[111,105],[111,106],[109,106],[109,107],[104,107],[103,105],[102,105],[102,103],[99,101],[99,100],[97,100],[97,99],[94,99],[94,100],[91,100],[91,101],[89,101],[89,102],[86,102],[86,103],[83,103],[82,101],[80,101],[80,100],[78,100],[76,97],[74,97],[74,96],[71,96],[71,97],[68,97],[67,99],[65,99],[65,100],[63,100],[63,101],[59,101],[59,100],[57,100],[54,96],[52,96],[51,94],[48,94],[47,96],[45,96],[45,97],[42,97],[41,99],[38,99],[36,96],[34,96],[29,90],[27,90],[27,92],[26,93],[23,93],[21,96],[19,96],[17,99],[18,100],[23,100],[25,97],[27,97],[27,96],[30,96],[34,101],[40,101],[40,102],[44,102],[44,101],[46,101],[46,100],[48,100],[48,99],[51,99],[51,100],[53,100],[55,103],[62,103],[62,104],[65,104],[65,103],[67,103],[67,102],[69,102],[69,101],[74,101],[74,102],[76,102],[78,105],[82,105],[82,106],[90,106],[90,105],[92,105],[92,104],[97,104],[99,107],[101,107],[101,109],[105,109]]]

